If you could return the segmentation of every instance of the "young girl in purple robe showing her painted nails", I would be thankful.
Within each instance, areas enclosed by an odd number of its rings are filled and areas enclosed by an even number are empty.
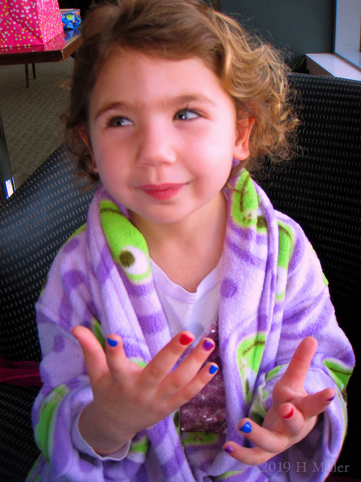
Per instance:
[[[102,185],[37,304],[28,481],[324,480],[353,352],[246,170],[297,123],[280,57],[196,0],[103,4],[83,37],[67,127]]]

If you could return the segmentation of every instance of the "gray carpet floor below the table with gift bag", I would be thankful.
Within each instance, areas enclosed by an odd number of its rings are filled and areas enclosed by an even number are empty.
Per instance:
[[[31,174],[63,142],[60,114],[69,90],[60,84],[72,75],[74,59],[29,65],[26,88],[24,65],[0,66],[0,111],[13,174]]]

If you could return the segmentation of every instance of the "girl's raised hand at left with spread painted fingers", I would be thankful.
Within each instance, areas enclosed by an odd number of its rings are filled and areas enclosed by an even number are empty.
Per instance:
[[[104,353],[88,328],[76,326],[72,334],[83,350],[94,396],[80,415],[79,431],[99,455],[116,452],[137,432],[166,418],[218,370],[215,363],[207,363],[199,371],[215,347],[213,340],[204,338],[171,372],[193,342],[188,331],[178,333],[144,368],[129,361],[118,335],[109,335],[115,346],[107,341]]]

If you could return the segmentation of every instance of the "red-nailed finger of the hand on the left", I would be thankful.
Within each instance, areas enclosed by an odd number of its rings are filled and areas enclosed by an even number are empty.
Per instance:
[[[155,388],[174,367],[177,360],[194,340],[193,333],[181,331],[155,355],[142,371],[140,382],[145,388]]]

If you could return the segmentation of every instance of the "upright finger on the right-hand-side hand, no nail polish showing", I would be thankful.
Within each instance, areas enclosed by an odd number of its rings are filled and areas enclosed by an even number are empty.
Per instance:
[[[312,336],[304,338],[293,354],[280,381],[290,388],[303,388],[309,365],[316,352],[317,340]]]

